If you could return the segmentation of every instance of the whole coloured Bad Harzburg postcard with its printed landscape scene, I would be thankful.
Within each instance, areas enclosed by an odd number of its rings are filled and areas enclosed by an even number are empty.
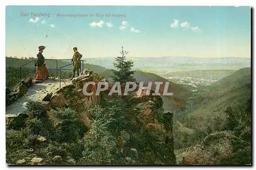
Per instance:
[[[251,165],[251,8],[7,6],[6,164]]]

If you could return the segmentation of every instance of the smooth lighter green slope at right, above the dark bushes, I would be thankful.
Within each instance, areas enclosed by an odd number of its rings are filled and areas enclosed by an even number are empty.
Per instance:
[[[242,115],[251,100],[251,68],[242,68],[211,84],[188,101],[190,109],[176,115],[185,127],[201,132],[221,131],[225,128],[225,110],[230,107]],[[239,117],[238,115],[238,117]]]

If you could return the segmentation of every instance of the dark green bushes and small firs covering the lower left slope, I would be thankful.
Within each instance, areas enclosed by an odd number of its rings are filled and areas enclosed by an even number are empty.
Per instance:
[[[39,116],[45,111],[40,103],[29,102],[27,106],[29,117],[13,120],[16,122],[15,125],[23,124],[23,126],[9,126],[6,131],[7,163],[16,164],[19,159],[26,157],[31,159],[35,155],[43,158],[48,164],[53,164],[52,158],[56,155],[62,158],[70,156],[79,163],[84,150],[84,144],[79,138],[83,137],[87,128],[78,120],[77,113],[72,109],[56,111],[56,115],[63,120],[55,126],[48,117]],[[20,120],[22,120],[21,123],[19,123]],[[45,137],[46,142],[38,141],[38,136]],[[63,164],[66,163],[63,162]]]

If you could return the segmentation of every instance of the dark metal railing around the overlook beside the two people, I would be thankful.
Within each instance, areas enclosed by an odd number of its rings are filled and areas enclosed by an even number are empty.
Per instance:
[[[61,80],[63,81],[63,79],[65,79],[66,77],[62,77],[61,78],[61,70],[72,70],[72,69],[62,69],[63,67],[66,67],[66,66],[69,66],[69,65],[73,65],[73,63],[71,64],[67,64],[67,65],[64,65],[64,66],[61,66],[61,67],[58,67],[58,61],[71,61],[71,59],[45,59],[45,61],[48,61],[48,60],[55,60],[56,61],[56,68],[47,68],[48,70],[56,70],[56,77],[58,77],[58,71],[59,71],[59,82],[61,84]],[[35,73],[36,71],[36,59],[35,60],[32,60],[26,64],[23,64],[22,66],[19,66],[18,69],[19,69],[19,82],[20,82],[20,85],[22,85],[22,80],[29,74],[31,74],[32,72]],[[84,62],[86,60],[81,60],[80,62],[80,73],[83,71],[84,69]],[[28,65],[29,63],[32,63],[34,62],[34,69],[32,71],[29,71],[28,73],[26,73],[25,75],[22,75],[22,68],[26,65]],[[63,81],[64,82],[64,81]],[[65,82],[64,82],[65,83]],[[65,83],[66,84],[66,83]],[[61,87],[61,86],[60,86]]]

